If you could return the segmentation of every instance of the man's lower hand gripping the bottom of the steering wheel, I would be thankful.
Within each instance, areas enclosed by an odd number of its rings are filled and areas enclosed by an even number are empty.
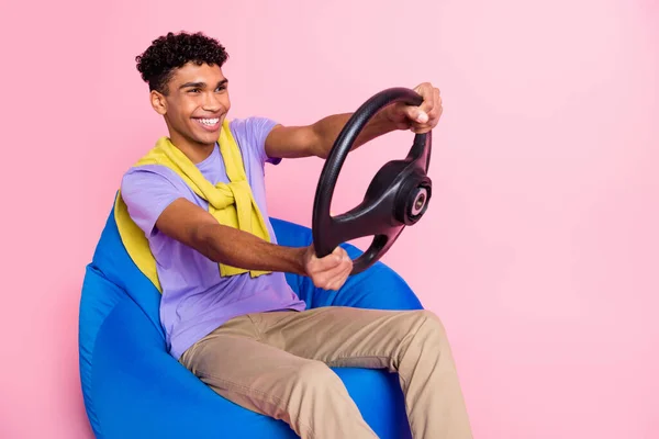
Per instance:
[[[316,288],[338,290],[353,271],[353,260],[343,247],[336,247],[330,255],[319,258],[313,244],[306,248],[304,270]]]

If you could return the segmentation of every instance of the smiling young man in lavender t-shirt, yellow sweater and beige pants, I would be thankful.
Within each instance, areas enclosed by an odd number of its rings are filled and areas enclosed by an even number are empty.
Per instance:
[[[376,437],[330,367],[398,372],[415,438],[470,438],[434,314],[305,309],[286,282],[283,273],[293,272],[337,290],[351,260],[340,247],[316,258],[313,246],[277,245],[264,166],[325,158],[350,114],[297,127],[263,117],[228,123],[226,58],[201,33],[169,33],[136,58],[169,136],[125,173],[121,199],[155,259],[171,354],[220,395],[286,420],[302,438]],[[439,91],[428,83],[416,91],[421,106],[384,109],[356,146],[393,130],[432,130],[442,114]]]

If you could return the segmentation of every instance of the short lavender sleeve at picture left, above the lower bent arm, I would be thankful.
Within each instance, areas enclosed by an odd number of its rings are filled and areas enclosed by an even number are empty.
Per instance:
[[[163,211],[179,198],[189,198],[185,182],[163,166],[130,169],[121,182],[121,196],[129,215],[147,237],[153,236]]]

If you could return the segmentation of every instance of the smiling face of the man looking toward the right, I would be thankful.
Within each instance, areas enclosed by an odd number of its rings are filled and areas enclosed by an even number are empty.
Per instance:
[[[208,146],[217,142],[231,108],[227,87],[219,66],[188,63],[175,70],[167,95],[152,93],[152,103],[165,116],[175,145],[186,142]]]

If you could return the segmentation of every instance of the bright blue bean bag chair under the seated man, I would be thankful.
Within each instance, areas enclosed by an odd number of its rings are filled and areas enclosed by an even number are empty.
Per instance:
[[[281,245],[308,246],[311,229],[271,218]],[[359,250],[344,246],[356,258]],[[334,293],[309,278],[287,274],[309,307],[421,309],[407,284],[376,263]],[[79,315],[80,380],[98,438],[297,438],[281,421],[214,393],[165,347],[160,294],[125,251],[113,212],[87,266]],[[364,418],[383,439],[411,438],[398,375],[383,370],[334,369]]]

